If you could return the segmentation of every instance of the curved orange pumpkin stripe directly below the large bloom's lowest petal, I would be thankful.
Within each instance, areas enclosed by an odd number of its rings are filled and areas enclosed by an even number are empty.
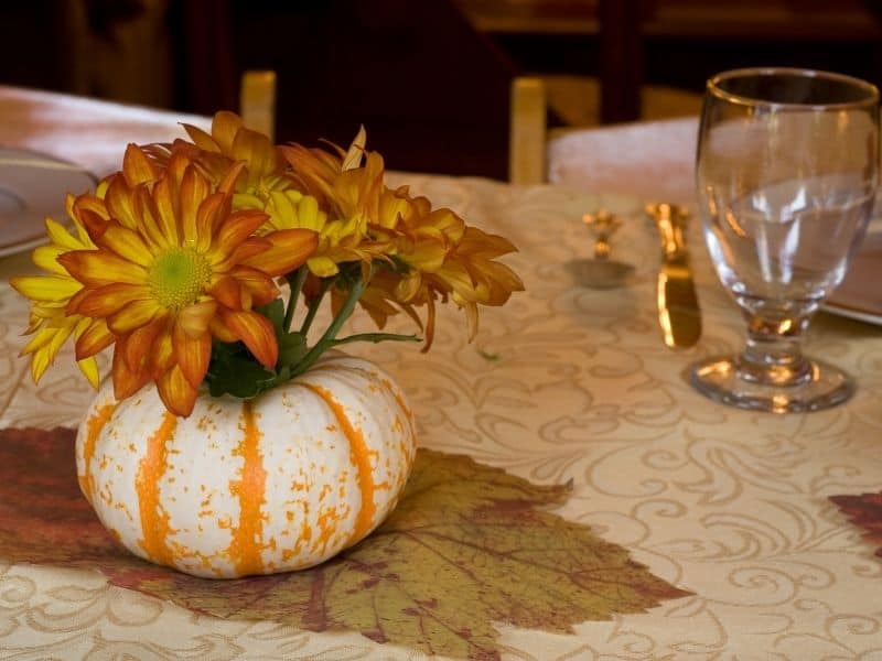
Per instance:
[[[141,534],[138,544],[144,553],[159,564],[171,565],[172,550],[165,543],[172,532],[169,513],[160,502],[160,480],[169,467],[166,443],[178,427],[178,418],[168,411],[162,424],[147,442],[147,454],[138,465],[135,490],[138,494],[138,510],[141,516]]]

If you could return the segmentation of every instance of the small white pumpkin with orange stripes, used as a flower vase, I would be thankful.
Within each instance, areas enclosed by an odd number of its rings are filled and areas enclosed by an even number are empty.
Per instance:
[[[392,510],[416,454],[410,410],[372,362],[325,354],[251,401],[201,393],[176,418],[109,379],[79,425],[79,486],[132,553],[196,576],[319,564]]]

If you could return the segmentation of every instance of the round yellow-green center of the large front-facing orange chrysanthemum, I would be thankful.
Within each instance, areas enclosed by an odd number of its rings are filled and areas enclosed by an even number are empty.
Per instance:
[[[189,248],[171,248],[160,254],[148,275],[157,302],[169,310],[195,303],[211,277],[208,261]]]

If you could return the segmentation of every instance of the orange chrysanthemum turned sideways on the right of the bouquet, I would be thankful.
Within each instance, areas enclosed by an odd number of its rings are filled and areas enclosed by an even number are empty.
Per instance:
[[[466,314],[469,338],[477,332],[477,305],[502,305],[524,284],[508,267],[494,261],[513,252],[506,239],[467,227],[451,209],[432,209],[426,197],[412,197],[407,187],[383,184],[383,158],[366,152],[359,132],[348,152],[306,149],[281,151],[293,169],[298,187],[315,197],[330,218],[357,220],[364,228],[358,246],[347,257],[380,257],[394,269],[379,269],[362,294],[361,305],[379,327],[399,308],[418,318],[413,306],[426,305],[426,349],[434,334],[434,302],[451,299]],[[362,165],[363,156],[365,163]],[[340,254],[340,252],[337,252]],[[345,292],[334,291],[338,308]]]

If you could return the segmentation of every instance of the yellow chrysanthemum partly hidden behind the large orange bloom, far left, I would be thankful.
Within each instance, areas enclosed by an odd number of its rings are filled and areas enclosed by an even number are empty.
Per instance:
[[[68,315],[65,312],[71,299],[83,289],[83,285],[65,271],[57,259],[72,250],[95,248],[88,234],[77,220],[73,205],[74,197],[68,195],[67,209],[74,224],[74,232],[69,232],[52,218],[46,218],[46,235],[50,242],[33,251],[34,264],[47,275],[23,275],[10,280],[15,291],[31,300],[30,325],[25,333],[32,337],[21,355],[31,356],[31,376],[34,382],[40,381],[69,338],[99,347],[98,350],[112,342],[112,335],[107,330],[103,319]],[[77,365],[89,383],[97,388],[100,375],[94,356],[78,360]]]

